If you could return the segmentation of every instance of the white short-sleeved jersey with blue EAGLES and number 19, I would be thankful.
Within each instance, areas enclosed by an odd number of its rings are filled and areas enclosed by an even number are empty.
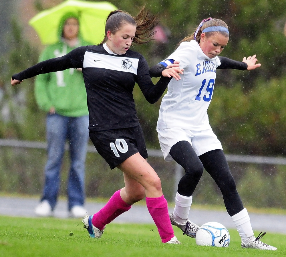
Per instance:
[[[179,61],[184,74],[180,74],[180,80],[172,78],[168,84],[168,92],[160,106],[157,128],[210,129],[207,109],[212,99],[216,68],[221,64],[219,58],[208,58],[198,43],[192,40],[182,42],[167,59]]]

